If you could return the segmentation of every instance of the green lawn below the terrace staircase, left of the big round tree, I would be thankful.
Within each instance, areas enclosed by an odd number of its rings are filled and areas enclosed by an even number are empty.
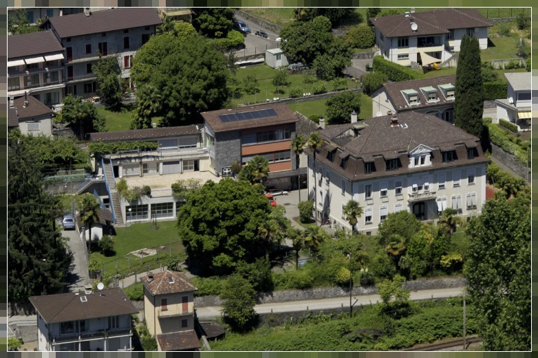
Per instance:
[[[158,230],[153,229],[153,223],[117,227],[116,236],[114,236],[116,255],[105,257],[99,252],[92,252],[90,258],[96,260],[97,269],[101,271],[103,270],[103,263],[105,263],[105,275],[115,272],[116,259],[118,259],[118,273],[126,273],[129,271],[129,267],[131,270],[136,269],[138,272],[145,271],[147,265],[150,268],[159,267],[162,259],[169,254],[184,254],[185,252],[182,243],[177,242],[180,238],[177,236],[175,225],[175,221],[160,222],[158,223]],[[160,246],[164,246],[164,248],[160,249]],[[146,258],[137,258],[133,255],[130,255],[129,258],[123,257],[131,251],[144,248],[157,248],[157,254]],[[94,250],[97,250],[97,247],[94,247]]]

